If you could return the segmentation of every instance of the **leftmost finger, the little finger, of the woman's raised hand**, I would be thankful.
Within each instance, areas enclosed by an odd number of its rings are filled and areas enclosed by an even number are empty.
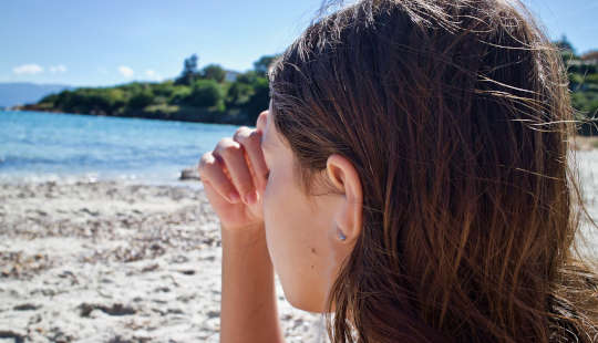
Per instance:
[[[204,184],[209,184],[228,202],[239,202],[240,196],[223,166],[212,153],[202,156],[198,165],[199,177]]]

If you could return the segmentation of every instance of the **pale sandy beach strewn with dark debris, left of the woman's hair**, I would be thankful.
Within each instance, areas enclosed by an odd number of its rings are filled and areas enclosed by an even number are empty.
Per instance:
[[[217,218],[198,187],[0,184],[0,342],[217,342]],[[288,342],[324,342],[290,306]]]

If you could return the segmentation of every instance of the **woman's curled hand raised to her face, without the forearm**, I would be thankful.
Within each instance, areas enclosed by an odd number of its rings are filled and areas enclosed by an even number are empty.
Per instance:
[[[199,160],[199,176],[207,198],[223,228],[238,229],[264,225],[261,196],[268,168],[261,152],[261,135],[268,112],[257,128],[239,127],[233,138],[223,138]]]

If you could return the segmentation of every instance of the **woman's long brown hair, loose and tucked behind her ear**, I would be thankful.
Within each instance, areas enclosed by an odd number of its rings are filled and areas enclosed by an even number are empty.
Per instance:
[[[359,1],[269,76],[306,190],[331,154],[363,186],[333,342],[598,340],[596,274],[571,249],[567,79],[523,4]]]

